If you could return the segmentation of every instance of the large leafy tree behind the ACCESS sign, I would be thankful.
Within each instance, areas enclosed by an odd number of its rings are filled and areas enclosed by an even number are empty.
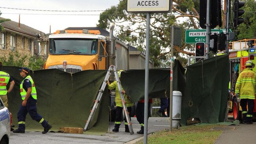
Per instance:
[[[186,29],[198,29],[198,9],[199,0],[173,0],[173,13],[181,15],[171,15],[170,13],[151,13],[150,14],[150,59],[154,61],[156,67],[162,65],[167,60],[167,54],[170,53],[170,31],[171,26],[176,25],[182,28],[183,39],[182,46],[175,46],[175,56],[179,53],[186,55],[195,55],[194,45],[185,44],[184,35]],[[125,11],[126,0],[120,0],[117,6],[111,6],[100,14],[100,28],[109,29],[112,22],[116,25],[117,37],[121,41],[135,46],[141,52],[145,52],[146,38],[146,15],[132,14]],[[179,22],[178,18],[186,17],[187,21]],[[179,24],[178,24],[179,23]]]

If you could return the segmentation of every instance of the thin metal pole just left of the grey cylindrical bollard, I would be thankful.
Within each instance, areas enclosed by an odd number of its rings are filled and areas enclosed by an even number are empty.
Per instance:
[[[169,131],[173,131],[173,66],[174,66],[174,59],[173,59],[173,48],[174,48],[174,25],[172,25],[172,33],[171,33],[171,71],[170,71],[170,128]]]

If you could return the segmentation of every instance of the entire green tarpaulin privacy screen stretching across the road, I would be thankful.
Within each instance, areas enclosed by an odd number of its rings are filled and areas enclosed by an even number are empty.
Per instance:
[[[15,66],[4,66],[3,69],[15,80],[15,87],[8,94],[9,110],[13,114],[15,127],[18,126],[17,112],[22,103],[19,94],[22,77],[18,69]],[[51,130],[85,126],[106,73],[107,70],[85,70],[74,74],[57,69],[31,71],[30,76],[37,89],[37,111],[52,125]],[[188,66],[186,80],[185,69],[175,61],[173,90],[181,91],[183,95],[182,124],[190,117],[198,117],[204,123],[223,122],[228,79],[228,57],[225,55]],[[170,69],[150,69],[148,82],[149,98],[169,97]],[[132,102],[144,98],[145,70],[122,72],[121,83]],[[32,120],[29,114],[26,117],[26,131],[43,131],[41,124]],[[105,89],[98,111],[86,133],[107,132],[108,126],[109,91]]]

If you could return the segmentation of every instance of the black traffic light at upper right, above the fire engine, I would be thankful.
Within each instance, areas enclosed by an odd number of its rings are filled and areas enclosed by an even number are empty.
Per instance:
[[[234,27],[236,28],[239,24],[244,21],[244,18],[239,18],[239,16],[245,13],[245,10],[239,9],[245,6],[245,2],[239,2],[239,0],[235,0],[234,2]]]

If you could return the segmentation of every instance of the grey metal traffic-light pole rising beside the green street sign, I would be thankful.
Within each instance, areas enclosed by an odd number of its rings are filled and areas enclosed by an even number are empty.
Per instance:
[[[210,0],[207,0],[207,6],[206,6],[206,59],[209,59],[209,52],[210,52]]]

